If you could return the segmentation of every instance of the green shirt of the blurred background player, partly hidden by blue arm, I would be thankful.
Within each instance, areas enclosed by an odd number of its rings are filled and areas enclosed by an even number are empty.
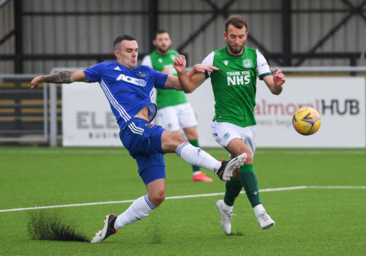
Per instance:
[[[154,52],[143,58],[141,65],[148,65],[157,71],[166,69],[169,70],[170,74],[177,76],[173,63],[174,59],[178,55],[178,52],[174,50],[168,50],[165,55],[159,54],[154,50]],[[156,105],[158,109],[182,103],[187,103],[187,98],[185,98],[183,91],[176,91],[174,89],[156,89]]]

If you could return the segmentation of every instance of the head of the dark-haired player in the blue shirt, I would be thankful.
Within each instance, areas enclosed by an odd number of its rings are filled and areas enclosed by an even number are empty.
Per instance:
[[[129,68],[134,69],[137,65],[139,46],[136,41],[123,40],[114,50],[118,63]]]

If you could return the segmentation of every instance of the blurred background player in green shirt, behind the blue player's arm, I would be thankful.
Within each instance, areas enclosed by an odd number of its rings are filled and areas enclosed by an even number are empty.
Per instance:
[[[179,56],[178,52],[170,49],[172,40],[165,30],[156,32],[154,43],[156,49],[151,54],[145,56],[141,65],[147,65],[154,70],[165,74],[176,76],[174,69],[174,59]],[[156,105],[159,109],[158,115],[161,120],[161,126],[181,136],[183,129],[187,140],[194,147],[199,147],[199,137],[197,135],[197,120],[194,111],[185,98],[185,93],[174,89],[156,89]],[[212,182],[205,173],[201,172],[200,167],[192,166],[193,181]]]

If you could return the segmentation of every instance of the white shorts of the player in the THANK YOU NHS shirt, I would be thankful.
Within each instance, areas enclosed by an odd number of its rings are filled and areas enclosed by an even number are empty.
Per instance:
[[[223,147],[227,147],[227,144],[233,138],[239,138],[245,142],[245,144],[252,151],[252,156],[256,152],[256,126],[240,127],[233,125],[230,122],[216,122],[213,121],[211,125],[212,136],[218,144]]]

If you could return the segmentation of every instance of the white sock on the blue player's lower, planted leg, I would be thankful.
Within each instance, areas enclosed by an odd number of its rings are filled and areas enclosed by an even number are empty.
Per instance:
[[[156,206],[152,204],[148,195],[143,195],[141,198],[137,198],[128,207],[126,211],[118,215],[116,222],[114,222],[114,229],[119,230],[119,228],[141,220],[143,217],[149,215],[150,211],[154,210]]]

